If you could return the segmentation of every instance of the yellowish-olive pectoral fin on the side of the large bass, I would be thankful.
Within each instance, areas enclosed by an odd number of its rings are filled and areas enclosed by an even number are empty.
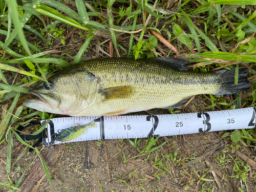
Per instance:
[[[99,93],[103,96],[103,101],[109,101],[113,99],[125,99],[130,98],[134,95],[134,88],[132,86],[119,86],[104,89],[99,91]]]

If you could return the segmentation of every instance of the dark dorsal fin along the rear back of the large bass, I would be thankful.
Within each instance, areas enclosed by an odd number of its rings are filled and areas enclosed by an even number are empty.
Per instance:
[[[170,57],[153,57],[147,58],[148,60],[156,61],[156,62],[163,62],[170,66],[173,69],[178,71],[187,71],[189,70],[187,66],[191,65],[189,61],[181,60],[181,59],[174,59]]]

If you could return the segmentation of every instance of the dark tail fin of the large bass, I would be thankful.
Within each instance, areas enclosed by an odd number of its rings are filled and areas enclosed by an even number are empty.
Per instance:
[[[247,80],[248,69],[239,68],[238,85],[234,84],[235,70],[236,69],[216,71],[216,73],[221,73],[220,78],[223,79],[222,87],[216,95],[229,95],[234,93],[241,93],[247,91],[250,88],[251,83]]]

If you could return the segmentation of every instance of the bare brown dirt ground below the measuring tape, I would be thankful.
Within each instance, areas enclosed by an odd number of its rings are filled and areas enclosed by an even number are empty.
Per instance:
[[[195,99],[193,103],[198,102]],[[195,104],[194,104],[195,105]],[[200,103],[196,105],[200,108]],[[185,111],[193,112],[191,104]],[[182,113],[184,113],[182,112]],[[168,111],[159,111],[168,113]],[[160,150],[140,154],[127,140],[86,141],[58,144],[38,149],[54,177],[67,191],[256,191],[256,166],[248,166],[246,185],[233,169],[242,155],[255,160],[255,147],[240,148],[232,153],[230,138],[224,132],[161,137]],[[140,150],[147,138],[138,144]],[[132,140],[134,141],[134,140]],[[255,143],[254,143],[255,145]],[[153,146],[155,147],[155,146]],[[12,147],[12,169],[8,175],[13,183],[22,176],[33,153],[15,137]],[[175,153],[177,150],[177,154]],[[88,152],[89,167],[85,167]],[[25,153],[17,162],[20,154]],[[123,154],[126,159],[124,162]],[[141,156],[139,156],[141,155]],[[7,144],[0,145],[0,180],[9,183],[6,175]],[[165,158],[163,158],[165,157]],[[255,161],[253,161],[255,163]],[[255,165],[255,164],[254,164]],[[241,169],[242,170],[242,169]],[[200,179],[201,178],[201,179]],[[202,179],[203,178],[203,179]],[[52,177],[53,191],[65,191]],[[239,189],[239,187],[241,189]],[[19,185],[21,191],[52,191],[37,155]],[[10,188],[1,186],[0,191]]]

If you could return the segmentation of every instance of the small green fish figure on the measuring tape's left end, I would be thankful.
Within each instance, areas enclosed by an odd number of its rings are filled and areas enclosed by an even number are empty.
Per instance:
[[[59,132],[54,139],[55,141],[70,141],[83,135],[84,133],[87,133],[88,128],[90,127],[97,127],[94,120],[84,125],[76,123],[73,126]]]

